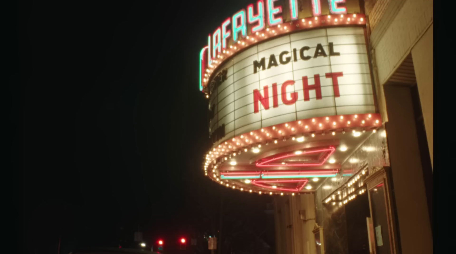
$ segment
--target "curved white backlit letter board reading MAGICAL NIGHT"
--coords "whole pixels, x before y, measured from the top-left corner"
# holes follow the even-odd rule
[[[375,112],[361,26],[279,36],[219,67],[209,97],[214,142],[283,122]]]

